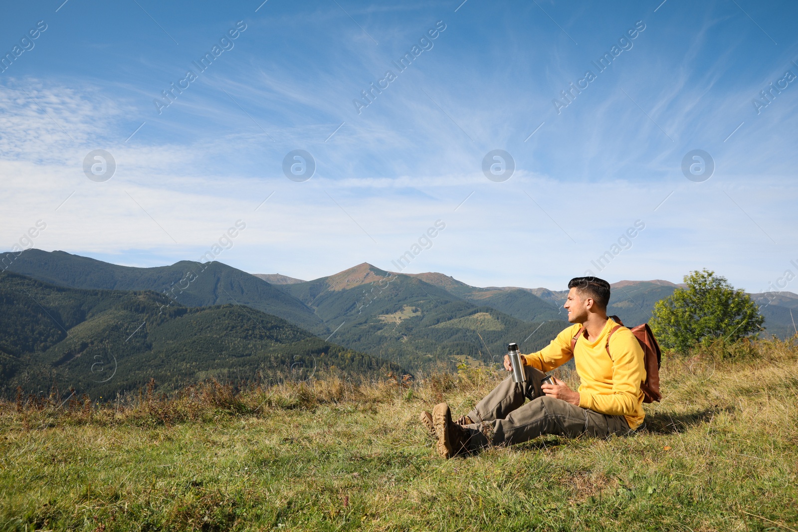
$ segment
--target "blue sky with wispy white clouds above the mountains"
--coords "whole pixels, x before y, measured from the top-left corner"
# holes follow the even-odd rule
[[[794,2],[261,1],[6,6],[0,246],[160,266],[242,220],[217,260],[311,279],[397,270],[441,220],[405,272],[562,289],[706,267],[760,291],[798,271]],[[294,150],[306,181],[283,173]],[[685,177],[693,150],[709,179]]]

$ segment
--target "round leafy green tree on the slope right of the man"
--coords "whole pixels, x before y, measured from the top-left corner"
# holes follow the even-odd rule
[[[757,304],[725,277],[696,270],[684,280],[687,288],[654,305],[650,326],[662,347],[686,354],[700,342],[736,341],[760,331],[764,317]]]

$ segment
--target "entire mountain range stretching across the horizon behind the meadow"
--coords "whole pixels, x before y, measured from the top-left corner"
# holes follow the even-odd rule
[[[180,379],[191,380],[231,368],[251,371],[255,359],[265,357],[267,352],[272,353],[270,357],[277,356],[275,353],[307,357],[307,353],[347,352],[358,363],[353,366],[339,361],[337,367],[346,366],[347,371],[353,372],[359,371],[358,368],[417,372],[428,370],[433,365],[453,368],[456,361],[489,364],[501,360],[510,341],[516,341],[522,351],[531,352],[546,345],[568,325],[567,314],[562,308],[567,290],[517,286],[482,288],[469,286],[445,274],[392,273],[368,263],[338,274],[303,281],[281,274],[248,274],[220,262],[181,261],[172,266],[135,268],[63,251],[32,249],[18,256],[5,255],[9,256],[14,260],[10,263],[4,261],[6,271],[18,276],[10,277],[6,273],[0,278],[3,285],[35,280],[39,284],[26,285],[26,290],[36,293],[65,288],[88,290],[80,294],[70,293],[70,297],[81,301],[99,298],[97,301],[103,302],[97,302],[96,308],[107,310],[99,312],[94,310],[95,306],[81,303],[82,306],[78,306],[86,310],[80,316],[85,319],[64,321],[65,317],[55,317],[62,316],[61,308],[47,303],[58,298],[49,296],[43,298],[44,303],[40,301],[36,305],[41,307],[41,311],[53,314],[53,320],[59,323],[58,328],[53,329],[52,324],[45,326],[41,313],[38,321],[30,324],[27,336],[10,325],[13,321],[10,318],[2,321],[0,334],[6,334],[6,340],[3,343],[0,336],[0,354],[3,357],[0,377],[6,383],[12,380],[9,372],[13,372],[13,378],[17,380],[22,378],[20,368],[33,367],[31,361],[34,359],[43,364],[40,370],[49,368],[53,371],[64,361],[76,361],[69,363],[75,367],[83,364],[78,357],[83,353],[78,349],[82,348],[70,343],[74,341],[73,336],[79,336],[79,331],[91,331],[90,339],[81,341],[94,346],[93,349],[100,349],[97,346],[119,343],[121,336],[132,333],[128,331],[128,324],[142,322],[147,324],[144,344],[135,344],[136,335],[122,342],[137,345],[137,350],[132,350],[136,351],[136,356],[144,357],[133,357],[129,345],[123,346],[128,349],[124,353],[130,353],[129,357],[125,355],[128,358],[123,357],[124,360],[136,361],[135,364],[131,362],[127,374],[131,382],[140,383],[146,375],[156,373],[154,368],[160,368],[157,370],[160,378],[171,379],[172,384]],[[654,304],[673,294],[678,286],[662,280],[616,282],[611,285],[608,313],[618,315],[630,326],[649,321]],[[16,299],[9,296],[8,301],[12,302],[6,305],[4,313],[13,316],[18,311],[34,315],[36,309],[30,307],[30,301],[28,308],[18,299],[19,287],[14,290]],[[65,298],[64,292],[58,294],[61,294],[59,298]],[[751,296],[760,304],[766,333],[787,337],[795,332],[792,313],[793,309],[798,310],[798,295],[780,292]],[[132,301],[137,302],[134,305]],[[70,305],[77,304],[67,305],[71,309]],[[139,309],[136,311],[138,315],[124,314],[132,312],[129,309],[134,307]],[[164,314],[172,316],[172,313],[180,319],[159,325]],[[268,322],[270,327],[284,330],[290,341],[270,344],[269,349],[255,349],[251,342],[263,338],[252,336],[255,334],[253,331],[239,329],[236,325],[251,324],[252,316],[259,323]],[[121,325],[123,322],[125,325]],[[223,329],[219,329],[221,324],[224,324]],[[162,326],[165,329],[160,329]],[[77,328],[74,334],[72,328]],[[9,339],[8,332],[14,330],[17,332]],[[69,336],[57,336],[58,330],[61,330],[60,334],[69,332]],[[166,337],[169,337],[168,341],[160,340]],[[204,340],[197,343],[198,337]],[[211,341],[210,337],[215,340]],[[228,344],[225,341],[229,341]],[[303,341],[308,343],[303,346]],[[243,351],[249,354],[236,356],[232,345],[248,345]],[[192,372],[187,368],[193,364],[192,350],[197,349],[196,353],[202,353],[200,359],[203,363]],[[211,364],[210,353],[214,351],[218,356]],[[172,375],[167,362],[156,361],[165,361],[166,353],[177,352],[182,354],[175,355],[172,360],[184,369]],[[41,356],[34,357],[31,353]],[[103,353],[110,351],[106,349]],[[103,353],[99,356],[104,357]],[[149,354],[145,356],[142,353]],[[90,354],[84,360],[93,356]],[[244,360],[247,357],[255,358]],[[329,353],[327,357],[330,357]],[[147,360],[147,365],[142,365],[144,363],[139,360]],[[275,359],[274,363],[264,366],[267,373],[277,371],[278,367],[284,368],[288,359],[283,357],[280,360],[278,363]],[[28,374],[24,378],[32,377]]]

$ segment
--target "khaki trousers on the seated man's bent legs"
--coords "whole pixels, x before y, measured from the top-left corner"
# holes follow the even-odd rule
[[[508,376],[468,412],[475,422],[464,425],[470,435],[469,450],[522,443],[542,434],[607,438],[634,433],[623,416],[599,414],[546,396],[540,389],[540,380],[546,374],[531,366],[524,366],[524,370],[525,382],[516,384],[512,375]],[[524,404],[527,398],[530,402]]]

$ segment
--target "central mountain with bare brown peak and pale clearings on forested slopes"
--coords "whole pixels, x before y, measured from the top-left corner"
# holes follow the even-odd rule
[[[513,301],[489,305],[434,279],[367,263],[279,288],[314,309],[336,342],[413,370],[452,357],[499,361],[508,341],[533,351],[567,326],[557,309],[531,294],[528,308],[515,312]]]

